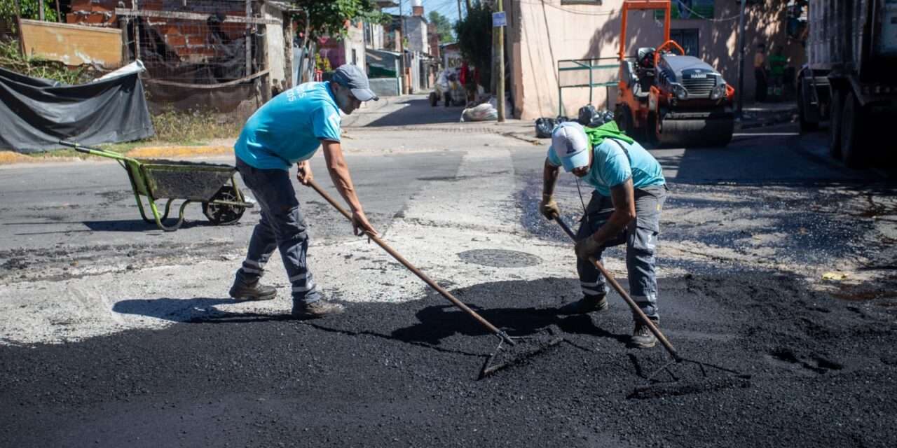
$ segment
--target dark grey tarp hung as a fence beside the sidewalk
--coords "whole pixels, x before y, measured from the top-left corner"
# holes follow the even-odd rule
[[[128,66],[68,85],[0,68],[0,149],[39,152],[59,148],[59,140],[98,144],[152,136],[142,70]]]

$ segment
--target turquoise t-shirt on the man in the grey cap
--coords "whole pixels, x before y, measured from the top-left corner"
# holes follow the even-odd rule
[[[234,144],[237,157],[255,168],[290,169],[311,159],[321,140],[339,142],[342,119],[329,84],[300,84],[258,108]]]

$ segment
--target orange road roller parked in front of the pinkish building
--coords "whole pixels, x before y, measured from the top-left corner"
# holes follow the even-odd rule
[[[660,47],[640,47],[626,55],[626,19],[632,10],[664,11]],[[735,89],[670,39],[670,2],[625,0],[622,15],[617,125],[655,147],[726,146],[735,130]]]

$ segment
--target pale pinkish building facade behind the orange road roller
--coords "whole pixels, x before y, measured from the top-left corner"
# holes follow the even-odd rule
[[[588,82],[588,71],[564,71],[559,75],[559,61],[601,58],[599,65],[619,64],[623,0],[603,0],[589,4],[570,0],[502,0],[508,13],[506,54],[509,60],[509,86],[514,101],[514,116],[533,119],[558,114],[558,85]],[[678,0],[674,4],[680,4]],[[683,10],[671,22],[672,38],[687,47],[693,56],[701,57],[722,73],[732,86],[737,85],[736,39],[738,2],[734,0],[692,1],[702,4],[697,12]],[[767,3],[768,4],[768,3]],[[775,2],[778,4],[778,2]],[[692,6],[692,9],[696,9]],[[701,14],[707,14],[701,18]],[[710,17],[712,15],[712,17]],[[675,14],[679,16],[679,14]],[[783,47],[789,65],[799,68],[804,63],[804,49],[789,42],[785,27],[785,2],[781,5],[753,6],[745,18],[745,101],[753,99],[753,54],[757,44],[767,48]],[[631,12],[628,18],[627,53],[632,56],[639,47],[658,47],[663,43],[663,21],[655,13]],[[606,58],[606,59],[605,59]],[[614,82],[614,68],[595,70],[594,82]],[[596,88],[592,104],[604,108],[614,105],[615,88]],[[588,104],[588,88],[565,89],[563,109],[567,115]]]

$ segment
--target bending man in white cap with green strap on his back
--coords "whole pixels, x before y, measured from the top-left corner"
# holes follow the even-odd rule
[[[666,180],[657,159],[623,134],[613,120],[596,128],[565,122],[554,128],[544,163],[544,191],[539,211],[549,220],[561,215],[553,199],[560,168],[595,188],[580,221],[576,245],[577,271],[583,298],[562,306],[562,314],[607,309],[608,292],[600,271],[588,262],[601,260],[605,247],[626,244],[629,292],[641,310],[659,324],[655,251],[660,211],[666,201]],[[635,320],[631,345],[657,344],[648,326]]]

